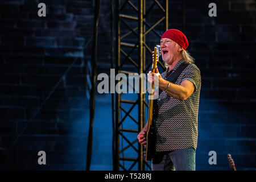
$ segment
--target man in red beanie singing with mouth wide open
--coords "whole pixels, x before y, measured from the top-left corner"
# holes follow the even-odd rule
[[[162,59],[168,65],[161,75],[148,72],[148,81],[154,84],[158,77],[159,92],[154,118],[156,148],[152,170],[194,171],[197,147],[197,118],[201,89],[200,70],[185,49],[188,40],[183,32],[170,29],[160,39]],[[183,63],[186,67],[174,82],[168,77]],[[139,143],[146,145],[148,123],[138,134]]]

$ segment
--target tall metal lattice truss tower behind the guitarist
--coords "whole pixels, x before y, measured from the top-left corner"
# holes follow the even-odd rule
[[[147,5],[146,5],[147,3]],[[156,11],[157,10],[157,11]],[[160,19],[154,21],[154,15],[157,12]],[[147,73],[150,69],[151,63],[146,63],[146,55],[151,55],[154,50],[154,46],[149,46],[150,36],[156,36],[156,39],[160,39],[161,34],[168,29],[168,0],[162,2],[136,0],[136,1],[116,1],[116,64],[115,75],[118,73]],[[157,17],[158,17],[157,16]],[[159,25],[162,27],[159,28]],[[151,33],[152,32],[152,33]],[[130,36],[130,38],[129,38]],[[157,44],[155,42],[154,44]],[[147,53],[146,53],[147,52]],[[134,56],[135,54],[135,56]],[[147,61],[148,62],[148,61]],[[147,64],[147,65],[146,65]],[[162,63],[160,66],[164,68]],[[138,165],[137,170],[145,170],[145,166],[150,168],[150,165],[144,159],[144,148],[138,143],[137,137],[129,140],[126,137],[127,133],[138,134],[144,127],[146,122],[146,109],[148,108],[147,100],[145,99],[146,93],[142,92],[142,77],[139,77],[139,93],[136,100],[127,100],[123,98],[124,93],[115,93],[115,130],[114,130],[114,170],[132,170],[135,165]],[[135,85],[133,85],[133,90]],[[123,107],[123,104],[130,104],[129,110]],[[131,111],[138,108],[138,118],[134,118],[131,115]],[[125,115],[122,117],[122,113]],[[127,120],[135,122],[137,125],[134,129],[123,128],[122,125]],[[121,147],[120,140],[125,140],[127,146]],[[125,156],[124,152],[127,150],[134,150],[138,153],[137,157]],[[121,164],[121,161],[123,162]],[[124,165],[124,161],[129,161],[130,165]]]

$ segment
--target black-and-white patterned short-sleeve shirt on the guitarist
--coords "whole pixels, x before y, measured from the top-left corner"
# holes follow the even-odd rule
[[[166,80],[182,63],[184,60],[179,60],[170,72],[167,69],[161,76]],[[195,64],[189,64],[174,84],[180,85],[184,80],[191,81],[196,88],[185,101],[177,100],[166,92],[158,96],[155,113],[156,152],[191,147],[196,150],[201,75]]]

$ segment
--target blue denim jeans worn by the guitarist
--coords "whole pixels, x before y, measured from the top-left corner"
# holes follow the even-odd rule
[[[152,171],[195,171],[196,151],[184,148],[169,152],[158,152],[152,160]]]

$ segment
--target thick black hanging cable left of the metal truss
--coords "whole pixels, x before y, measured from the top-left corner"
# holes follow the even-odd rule
[[[86,170],[90,170],[90,162],[92,160],[92,140],[93,140],[93,119],[95,110],[95,94],[96,94],[96,70],[97,70],[97,42],[98,42],[98,20],[100,16],[100,0],[95,1],[94,8],[94,31],[93,31],[93,47],[92,47],[92,89],[90,90],[90,126],[87,144]]]

